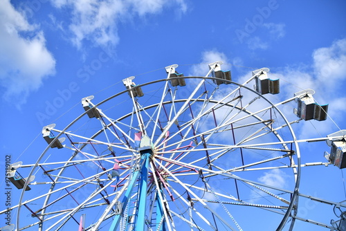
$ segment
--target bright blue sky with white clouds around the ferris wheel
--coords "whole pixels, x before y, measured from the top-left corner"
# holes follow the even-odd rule
[[[345,1],[0,3],[0,149],[12,162],[34,163],[46,147],[42,127],[57,123],[62,129],[83,112],[82,98],[95,95],[100,102],[122,91],[125,77],[135,75],[142,84],[161,75],[148,72],[171,64],[179,64],[185,76],[205,75],[208,63],[222,60],[239,82],[251,77],[253,69],[246,67],[268,67],[282,81],[274,100],[311,88],[319,103],[329,104],[327,121],[295,124],[298,138],[346,127]],[[164,78],[164,70],[159,72]],[[293,109],[284,113],[294,119]],[[324,151],[325,143],[307,145],[302,155],[306,162],[320,162]],[[307,171],[302,193],[345,200],[341,171],[323,171]],[[309,209],[302,203],[307,218],[329,223],[331,206]],[[312,210],[329,211],[318,216]]]

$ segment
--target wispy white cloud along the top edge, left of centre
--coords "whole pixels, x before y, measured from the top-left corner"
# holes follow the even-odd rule
[[[183,0],[174,1],[179,6],[179,12],[186,12],[187,6]],[[75,46],[82,48],[84,40],[97,46],[115,46],[119,42],[118,24],[132,19],[136,15],[144,17],[162,12],[165,6],[172,5],[168,0],[53,0],[57,8],[70,8],[73,17],[69,30],[73,33]]]

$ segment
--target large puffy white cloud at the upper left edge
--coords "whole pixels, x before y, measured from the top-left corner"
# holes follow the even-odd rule
[[[10,1],[2,2],[0,84],[6,89],[3,97],[20,107],[28,94],[42,85],[44,77],[55,73],[55,59],[46,48],[42,31],[29,24]]]

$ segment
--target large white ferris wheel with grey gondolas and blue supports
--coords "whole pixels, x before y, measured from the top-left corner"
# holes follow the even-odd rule
[[[311,89],[274,102],[280,80],[268,68],[239,84],[221,65],[209,64],[205,77],[185,77],[176,64],[161,80],[128,77],[105,100],[83,98],[65,128],[45,126],[37,162],[11,165],[22,191],[11,207],[16,223],[1,230],[294,230],[298,222],[344,230],[346,203],[300,192],[302,167],[346,167],[345,130],[304,140],[293,131],[326,120],[328,105]],[[299,144],[318,141],[330,146],[327,162],[302,163]],[[339,219],[300,217],[304,198],[334,206]]]

